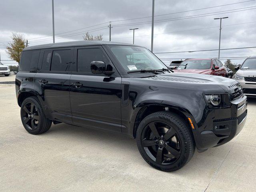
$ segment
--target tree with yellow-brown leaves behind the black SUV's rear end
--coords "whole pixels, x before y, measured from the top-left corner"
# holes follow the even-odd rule
[[[25,48],[26,40],[23,35],[14,32],[10,38],[12,41],[8,43],[8,46],[6,46],[6,53],[10,59],[20,63],[20,54]]]

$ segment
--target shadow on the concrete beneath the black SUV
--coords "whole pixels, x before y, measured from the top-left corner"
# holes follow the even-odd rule
[[[88,144],[88,142],[104,143],[104,145],[106,146],[106,150],[108,150],[108,148],[114,147],[117,151],[122,150],[124,151],[124,153],[128,152],[131,158],[128,161],[137,161],[134,163],[139,163],[140,166],[142,166],[142,169],[144,169],[145,166],[147,168],[151,168],[146,162],[144,162],[143,158],[140,156],[136,145],[136,140],[121,133],[109,132],[105,130],[95,130],[61,123],[57,125],[52,125],[50,130],[45,133],[45,135],[49,136],[48,134],[54,135],[53,137],[63,137],[64,140],[66,140],[66,138],[74,138],[74,142],[84,142],[85,144]],[[190,175],[191,177],[193,177],[195,172],[200,175],[207,169],[216,171],[220,162],[222,161],[222,159],[224,160],[231,146],[232,143],[229,142],[228,144],[219,146],[218,148],[210,148],[203,153],[198,153],[196,150],[193,158],[186,166],[172,173],[175,173],[175,175],[179,174],[186,177]]]

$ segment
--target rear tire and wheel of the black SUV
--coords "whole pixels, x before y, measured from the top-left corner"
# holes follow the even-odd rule
[[[22,124],[30,134],[41,134],[48,131],[52,121],[46,118],[42,106],[36,97],[26,98],[20,107]]]

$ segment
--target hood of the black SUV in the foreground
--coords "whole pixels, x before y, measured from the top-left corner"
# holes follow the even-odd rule
[[[202,90],[202,92],[228,92],[234,93],[241,90],[241,85],[233,79],[194,73],[168,73],[153,77],[142,78],[150,82],[152,86],[162,86],[187,90]],[[158,83],[159,82],[159,83]]]

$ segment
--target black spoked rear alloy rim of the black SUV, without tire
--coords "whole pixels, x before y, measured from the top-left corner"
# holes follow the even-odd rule
[[[27,102],[22,108],[22,121],[26,128],[36,130],[39,123],[39,115],[36,106],[32,102]]]

